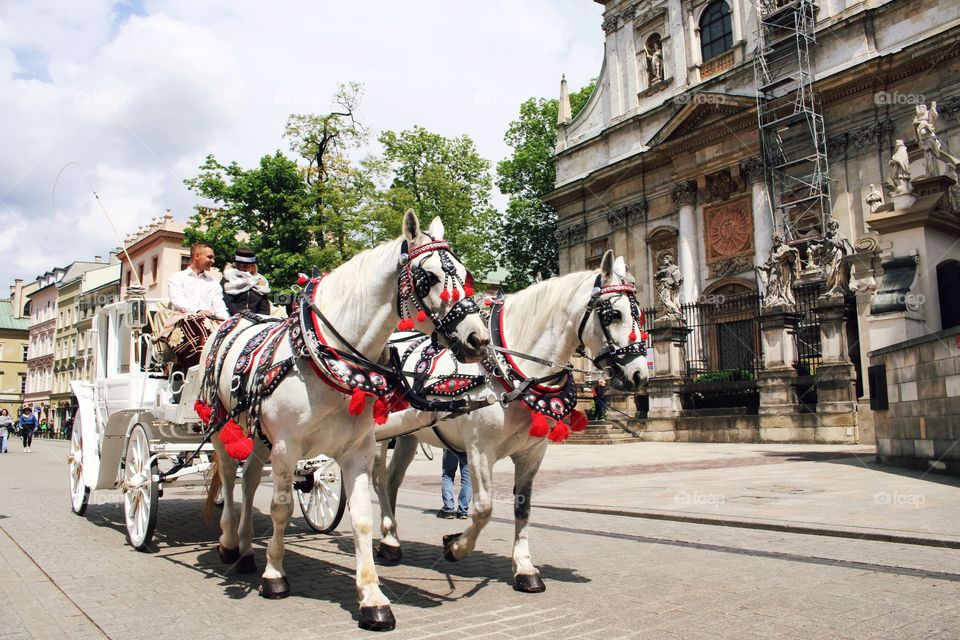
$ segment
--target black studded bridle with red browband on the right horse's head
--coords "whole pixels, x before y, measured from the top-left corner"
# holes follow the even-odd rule
[[[637,287],[632,283],[622,282],[606,287],[600,285],[601,279],[598,275],[590,294],[590,302],[587,303],[587,308],[580,319],[580,326],[577,328],[577,339],[580,341],[577,353],[589,358],[587,347],[583,342],[583,330],[586,328],[590,316],[596,312],[597,319],[600,321],[600,328],[603,331],[604,345],[597,355],[590,358],[590,361],[597,369],[608,373],[610,377],[622,378],[623,369],[627,364],[640,356],[647,355],[647,346],[644,343],[646,333],[643,331],[643,312],[637,302]],[[611,301],[612,296],[616,295],[627,296],[627,300],[630,302],[630,343],[622,347],[617,345],[610,334],[610,325],[613,324],[620,313],[617,309],[614,309]]]

